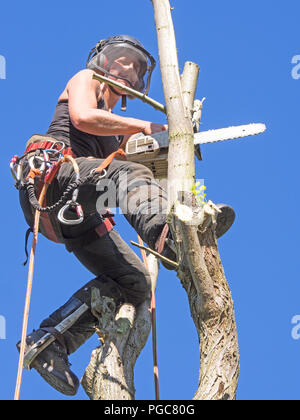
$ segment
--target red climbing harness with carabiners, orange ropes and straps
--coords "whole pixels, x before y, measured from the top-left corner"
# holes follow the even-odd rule
[[[35,137],[35,136],[33,136]],[[41,137],[37,135],[37,137]],[[124,142],[123,142],[124,143]],[[18,364],[18,374],[17,374],[17,381],[16,381],[16,388],[15,388],[15,400],[19,400],[20,398],[20,390],[21,390],[21,382],[22,382],[22,374],[23,368],[30,369],[30,366],[34,359],[46,348],[48,347],[55,339],[56,339],[56,332],[55,334],[49,332],[44,337],[42,337],[30,350],[28,353],[25,354],[26,349],[26,336],[27,336],[27,326],[28,326],[28,318],[29,318],[29,306],[30,306],[30,299],[31,299],[31,290],[32,290],[32,282],[33,282],[33,269],[34,269],[34,262],[35,262],[35,251],[38,239],[38,232],[39,232],[39,225],[40,225],[40,218],[43,214],[49,214],[51,212],[57,211],[58,212],[58,219],[61,223],[66,225],[77,225],[80,224],[84,219],[84,214],[81,205],[77,202],[79,188],[84,183],[89,182],[93,179],[95,175],[98,175],[99,178],[102,178],[106,175],[106,168],[107,166],[113,161],[115,157],[119,157],[119,159],[126,159],[126,154],[124,151],[125,144],[121,144],[120,148],[109,155],[102,164],[93,169],[90,174],[84,178],[80,178],[80,172],[78,164],[75,160],[75,156],[73,155],[70,148],[66,149],[63,142],[56,142],[55,140],[45,141],[45,142],[32,142],[27,148],[25,154],[19,158],[18,156],[14,156],[10,162],[10,169],[12,172],[12,176],[16,182],[15,186],[18,189],[26,188],[28,192],[29,202],[32,207],[35,209],[35,216],[34,216],[34,226],[33,229],[28,229],[26,233],[26,243],[28,240],[28,236],[30,232],[33,232],[33,241],[32,247],[30,252],[30,262],[29,262],[29,270],[28,270],[28,281],[27,281],[27,290],[26,290],[26,299],[25,299],[25,307],[24,307],[24,315],[23,315],[23,324],[22,324],[22,338],[20,342],[20,357],[19,357],[19,364]],[[28,165],[29,165],[29,174],[27,175],[26,179],[23,178],[23,171],[22,171],[22,161],[23,159],[29,154],[34,152],[34,155],[28,158]],[[60,169],[61,165],[65,162],[70,162],[73,165],[73,170],[75,173],[75,181],[68,185],[68,187],[63,192],[61,198],[53,205],[46,206],[45,198],[48,187],[51,185],[52,181],[54,180],[58,170]],[[40,183],[38,189],[38,198],[35,193],[35,178],[42,178],[42,182]],[[71,199],[69,199],[70,195],[72,194]],[[67,210],[74,209],[77,214],[77,219],[69,220],[65,216],[65,212]],[[96,227],[95,231],[98,236],[103,236],[106,232],[112,229],[115,222],[111,217],[111,213],[107,212],[106,215],[103,215],[105,218],[104,222]],[[45,221],[45,220],[44,220]],[[48,222],[50,222],[48,220]],[[51,225],[51,222],[48,225]],[[139,241],[142,239],[138,235]],[[27,251],[26,251],[27,253]],[[146,269],[149,271],[148,263],[146,259],[146,254],[143,255],[143,261],[146,266]],[[28,257],[28,253],[27,253]],[[59,334],[63,334],[68,328],[69,324],[71,325],[76,322],[77,318],[80,317],[88,307],[86,305],[82,305],[80,308],[77,309],[73,314],[68,317],[65,322],[62,322],[58,326],[56,326],[56,330]],[[152,287],[151,290],[151,314],[152,314],[152,339],[153,339],[153,358],[154,358],[154,380],[155,380],[155,395],[156,399],[159,399],[159,387],[158,387],[158,366],[157,366],[157,345],[156,345],[156,318],[155,318],[155,290]]]

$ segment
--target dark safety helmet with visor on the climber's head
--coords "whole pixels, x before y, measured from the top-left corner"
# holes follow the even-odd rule
[[[107,76],[114,76],[110,73],[111,65],[123,56],[138,64],[138,80],[133,85],[124,77],[118,78],[126,80],[133,89],[147,95],[156,61],[137,39],[129,35],[117,35],[99,41],[90,51],[86,67]]]

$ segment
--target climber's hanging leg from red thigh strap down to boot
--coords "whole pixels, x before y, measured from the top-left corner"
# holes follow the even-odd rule
[[[71,227],[63,231],[72,236]],[[74,235],[78,233],[76,227]],[[80,243],[76,237],[66,239],[68,248],[73,245],[74,255],[97,278],[77,291],[26,339],[27,355],[40,340],[43,340],[45,334],[50,333],[55,338],[55,341],[35,358],[31,367],[36,369],[52,387],[66,395],[75,395],[79,386],[76,375],[70,369],[68,355],[75,352],[95,333],[98,324],[97,318],[91,311],[92,288],[98,289],[102,298],[110,298],[116,308],[124,302],[137,307],[150,293],[149,273],[115,230],[88,244],[80,245]],[[56,327],[66,322],[70,316],[74,317],[83,304],[87,305],[88,309],[75,319],[67,331],[63,334],[58,333]]]

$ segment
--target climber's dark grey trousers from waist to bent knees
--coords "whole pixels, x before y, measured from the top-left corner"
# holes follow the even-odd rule
[[[76,161],[80,176],[85,178],[103,159],[77,158]],[[63,164],[49,188],[47,204],[53,204],[73,179],[72,164]],[[102,200],[104,197],[105,201]],[[32,226],[32,211],[24,191],[20,200],[26,220]],[[78,202],[84,210],[84,222],[74,226],[60,224],[62,240],[95,276],[104,274],[117,283],[127,302],[134,305],[142,303],[149,293],[150,277],[141,260],[120,235],[113,229],[92,241],[84,239],[91,229],[99,225],[99,212],[105,207],[120,207],[131,226],[153,248],[166,222],[166,192],[144,165],[114,160],[100,181],[99,175],[95,174],[89,184],[80,187]]]

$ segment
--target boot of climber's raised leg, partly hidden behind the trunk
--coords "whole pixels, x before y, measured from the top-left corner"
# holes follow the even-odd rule
[[[219,208],[219,210],[222,211],[222,213],[218,213],[217,215],[216,236],[219,239],[233,225],[235,219],[235,212],[233,208],[228,206],[227,204],[216,204],[216,206]],[[175,251],[176,248],[168,224],[165,224],[160,234],[160,237],[158,238],[155,244],[155,249],[159,254],[168,258],[169,260],[175,262],[177,261],[177,255]],[[173,266],[164,261],[162,261],[162,265],[167,270],[174,270]]]

